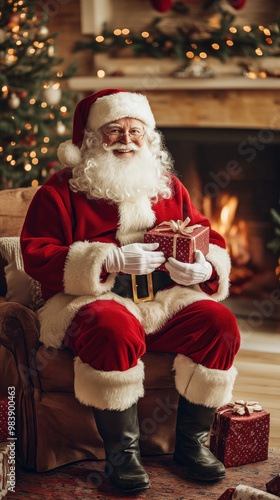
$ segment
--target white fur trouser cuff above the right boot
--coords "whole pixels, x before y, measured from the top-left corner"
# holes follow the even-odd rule
[[[230,402],[237,370],[206,368],[178,354],[174,360],[176,389],[194,404],[218,408]]]

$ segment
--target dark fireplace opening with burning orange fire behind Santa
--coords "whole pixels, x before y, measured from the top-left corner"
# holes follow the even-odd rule
[[[270,210],[279,207],[280,199],[280,131],[187,127],[161,131],[194,205],[226,239],[232,260],[230,308],[246,316],[254,301],[271,301],[274,293],[269,319],[277,319],[277,257],[267,243],[274,237]]]

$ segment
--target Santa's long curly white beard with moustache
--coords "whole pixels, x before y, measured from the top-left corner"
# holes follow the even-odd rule
[[[130,145],[114,144],[114,147],[124,149]],[[137,148],[134,143],[132,147]],[[115,203],[133,202],[143,196],[170,196],[169,175],[146,143],[135,150],[132,158],[118,158],[108,149],[102,145],[84,152],[69,181],[73,191],[84,192],[89,199],[102,198]]]

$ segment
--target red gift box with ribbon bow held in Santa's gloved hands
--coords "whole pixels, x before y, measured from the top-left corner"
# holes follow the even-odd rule
[[[204,255],[209,252],[209,227],[200,224],[190,226],[189,223],[189,217],[184,222],[162,222],[145,233],[144,242],[159,243],[157,250],[164,253],[166,260],[174,257],[180,262],[192,264],[195,250],[201,250]],[[158,269],[168,272],[164,264]]]

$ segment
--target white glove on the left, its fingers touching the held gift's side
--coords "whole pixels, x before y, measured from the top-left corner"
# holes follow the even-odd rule
[[[131,243],[111,248],[105,259],[108,273],[148,274],[165,262],[163,252],[154,252],[158,243]]]

